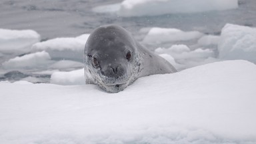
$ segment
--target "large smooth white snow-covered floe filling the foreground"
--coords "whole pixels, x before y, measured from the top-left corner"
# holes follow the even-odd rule
[[[0,82],[0,143],[256,143],[255,73],[248,61],[222,61],[119,93]]]

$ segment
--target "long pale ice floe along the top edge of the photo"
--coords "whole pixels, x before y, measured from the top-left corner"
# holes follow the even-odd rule
[[[165,15],[171,13],[201,13],[236,9],[238,0],[125,0],[93,8],[97,13],[117,13],[122,17]]]

